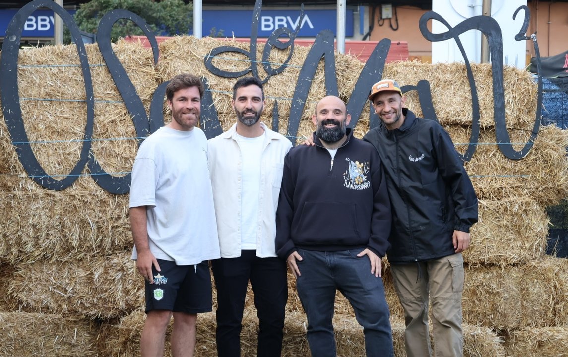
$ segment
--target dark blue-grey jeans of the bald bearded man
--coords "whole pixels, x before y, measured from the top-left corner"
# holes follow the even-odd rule
[[[394,356],[383,281],[371,274],[366,255],[357,257],[361,251],[298,249],[303,260],[296,261],[300,270],[296,289],[308,318],[312,357],[337,355],[332,324],[336,289],[349,300],[357,322],[363,326],[367,356]]]

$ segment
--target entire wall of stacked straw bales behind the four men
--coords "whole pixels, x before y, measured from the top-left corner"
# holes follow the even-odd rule
[[[232,41],[174,37],[160,44],[160,62],[155,67],[151,52],[138,44],[120,41],[113,49],[147,112],[159,83],[189,72],[207,78],[220,124],[227,129],[235,120],[231,108],[235,79],[217,77],[203,64],[211,49],[221,45],[248,49],[248,44]],[[261,51],[262,47],[257,58],[262,58]],[[266,107],[261,120],[272,127],[272,112],[278,101],[281,133],[286,133],[294,86],[307,51],[295,47],[289,67],[270,77],[265,85]],[[122,175],[132,167],[136,132],[97,47],[87,45],[87,53],[95,96],[91,150],[106,171]],[[287,49],[274,49],[270,56],[273,68],[282,64],[288,54]],[[220,57],[213,62],[219,69],[239,72],[258,66],[260,77],[267,77],[262,65],[250,63],[242,54],[223,53]],[[68,173],[82,146],[86,106],[75,101],[85,100],[77,65],[76,49],[71,46],[20,53],[18,75],[24,124],[38,161],[51,175]],[[353,90],[357,78],[354,74],[360,73],[362,66],[353,57],[336,57],[337,82],[345,101]],[[559,129],[543,128],[527,158],[511,161],[504,157],[493,144],[491,72],[487,66],[475,66],[474,72],[483,145],[466,163],[480,199],[480,221],[472,230],[471,248],[465,255],[465,355],[516,354],[519,346],[525,354],[548,354],[553,346],[558,348],[558,341],[568,340],[562,327],[567,323],[566,264],[544,255],[548,226],[544,207],[566,196],[567,164],[563,153],[568,136]],[[507,123],[515,131],[512,141],[524,142],[525,131],[534,120],[536,89],[523,72],[506,69],[504,75]],[[383,77],[396,78],[401,85],[427,79],[438,119],[452,135],[457,149],[463,151],[462,144],[469,142],[471,99],[462,65],[401,62],[387,65]],[[324,95],[320,63],[303,110],[299,137],[312,132],[310,117]],[[410,94],[408,104],[420,114],[416,99]],[[357,136],[369,129],[369,115],[368,110],[361,115]],[[166,120],[168,117],[166,111]],[[0,347],[0,355],[13,354],[15,348],[20,351],[20,345],[45,355],[137,355],[144,324],[140,310],[143,283],[130,261],[128,195],[103,191],[86,168],[85,175],[64,191],[39,187],[19,163],[4,120],[0,120],[0,173],[0,267],[5,276],[0,318],[3,329],[11,329],[11,334],[5,335],[9,343]],[[389,276],[386,270],[395,351],[396,355],[404,355],[402,311]],[[305,315],[295,293],[294,278],[289,278],[283,355],[308,355]],[[214,356],[215,314],[203,314],[198,321],[198,355]],[[335,326],[340,355],[364,354],[362,330],[340,295]],[[37,333],[29,334],[30,328]],[[249,296],[243,322],[243,355],[256,353],[257,328]],[[541,343],[531,341],[532,328],[538,329],[535,331],[539,331]],[[552,343],[553,338],[557,338],[556,343]]]

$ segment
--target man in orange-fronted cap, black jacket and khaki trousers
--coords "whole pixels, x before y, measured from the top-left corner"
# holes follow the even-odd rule
[[[448,133],[403,108],[398,83],[375,83],[369,100],[381,124],[364,140],[385,167],[393,218],[387,257],[404,308],[407,355],[432,355],[430,300],[435,355],[461,356],[461,252],[478,219],[477,196]]]

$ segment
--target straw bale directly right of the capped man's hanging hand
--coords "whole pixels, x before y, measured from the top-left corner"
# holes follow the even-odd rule
[[[463,259],[477,264],[516,264],[544,257],[548,216],[528,198],[479,200],[479,221]]]

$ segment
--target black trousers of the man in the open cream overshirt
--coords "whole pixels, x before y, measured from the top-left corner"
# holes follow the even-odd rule
[[[247,286],[250,280],[258,316],[258,356],[279,356],[288,285],[286,262],[258,258],[256,250],[243,250],[239,258],[211,261],[217,289],[217,353],[240,356],[240,333]]]

